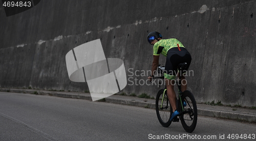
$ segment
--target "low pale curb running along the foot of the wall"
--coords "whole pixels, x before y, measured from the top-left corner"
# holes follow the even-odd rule
[[[49,95],[49,96],[56,96],[56,97],[62,97],[62,98],[92,100],[91,96],[85,96],[82,94],[65,94],[65,93],[61,93],[61,92],[40,91],[40,90],[33,90],[33,89],[31,89],[31,90],[0,89],[0,92],[27,93],[27,94],[35,94],[35,95]],[[152,109],[155,109],[155,107],[156,107],[155,103],[142,102],[142,101],[136,101],[136,100],[113,99],[110,97],[105,98],[105,102],[145,107],[145,108],[152,108]],[[256,123],[256,115],[242,114],[239,112],[198,108],[198,116],[214,117],[214,118]]]

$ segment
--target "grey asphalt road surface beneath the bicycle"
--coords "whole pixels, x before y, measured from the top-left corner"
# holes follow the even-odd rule
[[[255,124],[206,117],[187,133],[180,122],[162,127],[154,109],[0,92],[0,140],[254,140],[255,134]]]

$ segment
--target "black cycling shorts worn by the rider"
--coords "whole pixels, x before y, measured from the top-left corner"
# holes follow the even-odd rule
[[[179,50],[180,48],[180,50]],[[167,79],[175,79],[178,74],[178,65],[180,63],[187,63],[186,71],[191,63],[191,55],[184,47],[173,47],[167,52],[166,63],[165,63],[165,74],[164,77]],[[168,75],[167,75],[168,74]]]

